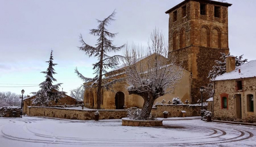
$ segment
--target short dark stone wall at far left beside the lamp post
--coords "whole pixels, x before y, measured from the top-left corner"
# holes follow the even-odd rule
[[[0,117],[20,117],[20,107],[17,106],[4,106],[0,107]],[[16,111],[13,113],[13,111]]]

